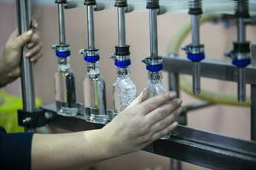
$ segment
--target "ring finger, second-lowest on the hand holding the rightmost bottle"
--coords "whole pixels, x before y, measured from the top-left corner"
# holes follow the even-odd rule
[[[160,120],[159,122],[154,123],[152,127],[150,127],[150,131],[152,133],[158,133],[165,129],[166,127],[170,126],[173,122],[177,120],[177,116],[181,113],[182,108],[178,108],[176,111],[173,111],[172,114],[166,116],[164,119]]]

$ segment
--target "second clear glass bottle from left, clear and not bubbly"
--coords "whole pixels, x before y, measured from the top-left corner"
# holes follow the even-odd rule
[[[99,69],[98,62],[87,63],[87,75],[84,78],[84,105],[90,110],[85,110],[86,121],[105,124],[108,122],[106,85]]]

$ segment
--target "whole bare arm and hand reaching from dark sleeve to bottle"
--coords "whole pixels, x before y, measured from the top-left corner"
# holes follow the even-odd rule
[[[173,94],[172,94],[173,95]],[[67,134],[35,134],[32,169],[76,169],[96,161],[141,150],[177,127],[181,100],[170,94],[142,96],[99,130]]]

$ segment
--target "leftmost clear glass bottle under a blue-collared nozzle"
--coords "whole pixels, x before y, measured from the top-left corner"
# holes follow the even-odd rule
[[[55,101],[59,115],[77,115],[75,77],[68,58],[58,58],[58,68],[55,72]]]

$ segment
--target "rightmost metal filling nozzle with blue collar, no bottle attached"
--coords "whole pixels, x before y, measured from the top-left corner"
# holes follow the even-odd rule
[[[246,40],[246,22],[250,18],[247,0],[238,0],[236,8],[237,41],[229,56],[237,67],[238,100],[246,101],[246,67],[251,64],[250,42]]]

